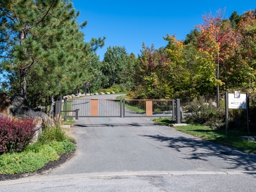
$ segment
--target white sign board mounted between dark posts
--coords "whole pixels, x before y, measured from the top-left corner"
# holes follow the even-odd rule
[[[228,93],[228,109],[246,109],[246,94]]]

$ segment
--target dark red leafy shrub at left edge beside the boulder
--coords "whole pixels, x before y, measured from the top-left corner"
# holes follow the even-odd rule
[[[24,150],[35,136],[35,126],[33,118],[29,120],[0,118],[0,154]]]

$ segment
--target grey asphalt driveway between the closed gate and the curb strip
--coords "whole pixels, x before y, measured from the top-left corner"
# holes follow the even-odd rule
[[[255,155],[156,125],[147,117],[79,118],[72,129],[76,156],[47,174],[256,171]]]

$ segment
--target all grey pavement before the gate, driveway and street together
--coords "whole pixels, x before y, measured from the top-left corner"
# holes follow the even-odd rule
[[[255,191],[255,155],[146,117],[79,118],[76,125],[75,157],[44,176],[0,182],[0,191]]]

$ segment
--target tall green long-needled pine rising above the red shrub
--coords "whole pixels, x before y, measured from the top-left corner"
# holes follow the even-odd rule
[[[24,97],[67,93],[82,76],[86,55],[104,45],[104,38],[84,42],[79,27],[86,22],[77,24],[69,0],[0,0],[0,13],[1,69]]]

